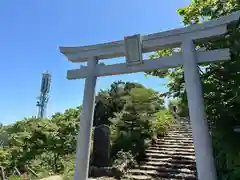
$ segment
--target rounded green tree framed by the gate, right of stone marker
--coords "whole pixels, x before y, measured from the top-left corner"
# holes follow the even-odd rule
[[[155,113],[162,108],[163,99],[157,92],[147,88],[132,88],[122,97],[123,111],[111,119],[111,139],[113,156],[118,151],[132,151],[140,158],[144,155],[146,139],[151,139],[151,121]]]

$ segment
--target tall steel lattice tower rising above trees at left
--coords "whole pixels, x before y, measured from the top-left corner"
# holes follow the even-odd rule
[[[49,99],[49,90],[51,84],[51,74],[45,72],[42,74],[42,83],[40,89],[40,96],[37,98],[38,118],[46,116],[47,102]]]

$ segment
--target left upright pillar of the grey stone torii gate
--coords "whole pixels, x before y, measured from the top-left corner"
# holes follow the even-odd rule
[[[89,71],[94,72],[96,70],[97,59],[95,57],[89,58],[87,65]],[[91,73],[85,80],[83,107],[80,117],[80,133],[77,138],[74,180],[88,179],[96,81],[97,77]]]

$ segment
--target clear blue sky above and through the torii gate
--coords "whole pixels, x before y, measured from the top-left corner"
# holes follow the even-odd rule
[[[47,114],[82,103],[83,80],[69,81],[76,68],[59,46],[82,46],[181,27],[176,10],[190,0],[7,0],[0,2],[0,122],[37,113],[41,73],[52,73]],[[110,61],[110,60],[108,60]],[[117,62],[117,61],[114,61]],[[143,73],[99,78],[97,91],[115,80],[136,81],[164,91],[166,80]]]

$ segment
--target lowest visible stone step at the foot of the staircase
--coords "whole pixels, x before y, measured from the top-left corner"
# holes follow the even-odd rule
[[[189,173],[181,173],[181,172],[158,172],[155,170],[139,170],[139,169],[132,169],[129,171],[132,175],[149,175],[152,176],[152,178],[176,178],[176,179],[186,179],[191,178],[196,180],[195,174],[189,174]]]

